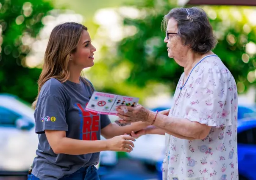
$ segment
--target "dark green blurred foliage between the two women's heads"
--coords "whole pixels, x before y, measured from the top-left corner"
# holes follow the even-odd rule
[[[175,88],[183,68],[167,56],[165,33],[161,30],[164,13],[174,7],[168,0],[141,0],[136,8],[144,15],[138,19],[124,19],[125,26],[137,29],[134,36],[124,38],[118,44],[119,58],[133,64],[128,82],[139,87],[144,87],[147,82],[159,82],[170,86],[171,90]]]

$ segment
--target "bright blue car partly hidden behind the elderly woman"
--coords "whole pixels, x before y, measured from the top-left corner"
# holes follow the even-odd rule
[[[239,180],[256,180],[256,117],[238,121],[237,152]],[[156,164],[159,180],[162,180],[161,166],[162,159]]]

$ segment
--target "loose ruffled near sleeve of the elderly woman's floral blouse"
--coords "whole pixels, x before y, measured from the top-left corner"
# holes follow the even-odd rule
[[[195,77],[189,91],[185,118],[209,126],[232,125],[235,89],[234,78],[227,69],[204,71]]]

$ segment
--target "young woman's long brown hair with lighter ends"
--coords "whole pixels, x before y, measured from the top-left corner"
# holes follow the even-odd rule
[[[34,109],[36,108],[40,90],[47,80],[56,78],[60,82],[66,82],[69,79],[68,63],[70,53],[76,51],[83,30],[87,30],[87,27],[75,22],[66,22],[53,28],[45,51],[42,73],[37,82],[38,94],[36,101],[32,104]],[[89,82],[83,81],[89,85]]]

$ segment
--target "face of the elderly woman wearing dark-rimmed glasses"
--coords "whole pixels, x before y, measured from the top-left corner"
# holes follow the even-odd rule
[[[166,32],[178,33],[177,22],[173,18],[169,19]],[[182,62],[179,61],[186,55],[188,47],[183,45],[181,38],[177,34],[169,34],[168,39],[167,37],[164,38],[164,42],[167,43],[168,57],[174,58],[182,66]]]

